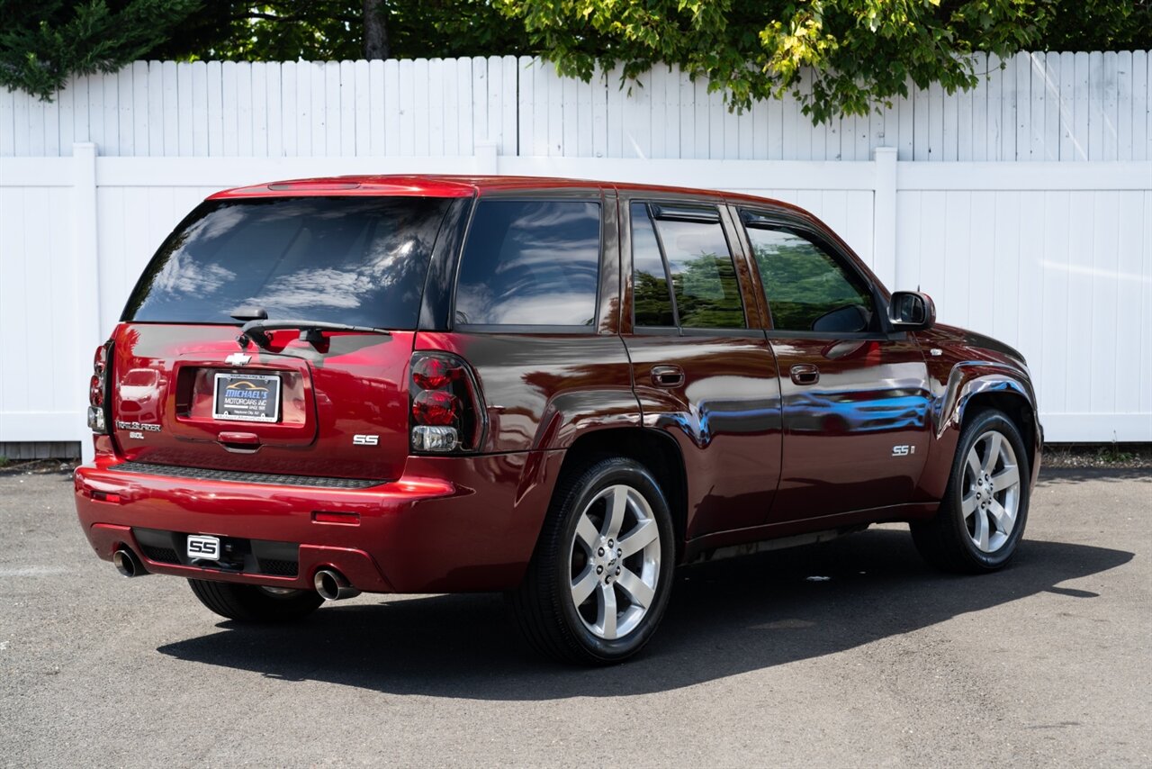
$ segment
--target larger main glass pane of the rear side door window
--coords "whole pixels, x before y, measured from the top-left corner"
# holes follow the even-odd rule
[[[680,325],[685,329],[743,329],[740,281],[719,221],[657,219],[668,259]]]

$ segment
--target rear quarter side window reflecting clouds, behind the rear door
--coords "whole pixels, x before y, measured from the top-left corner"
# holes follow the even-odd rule
[[[456,286],[456,322],[591,326],[600,272],[600,205],[480,201]]]

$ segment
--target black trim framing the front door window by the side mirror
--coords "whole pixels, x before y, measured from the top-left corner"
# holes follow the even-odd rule
[[[887,318],[888,303],[878,291],[877,282],[861,269],[855,258],[851,258],[848,254],[846,254],[844,250],[841,249],[834,240],[828,238],[827,234],[819,227],[785,209],[765,209],[741,203],[734,204],[732,208],[736,214],[735,219],[738,226],[743,229],[743,238],[748,246],[748,261],[750,269],[753,271],[753,281],[764,299],[764,306],[767,312],[766,325],[770,326],[765,329],[765,332],[770,339],[892,339],[903,338],[907,336],[903,332],[894,332],[889,325]],[[764,221],[757,223],[760,226],[757,226],[756,224],[750,225],[744,216],[745,212],[764,217]],[[878,318],[879,330],[829,333],[825,331],[790,331],[788,329],[776,329],[775,317],[772,314],[772,300],[768,299],[768,293],[764,288],[764,278],[760,276],[760,266],[756,263],[756,257],[752,252],[752,238],[749,234],[750,229],[791,231],[801,238],[804,238],[805,240],[823,248],[823,250],[832,257],[832,261],[836,265],[850,274],[856,276],[863,287],[867,291],[869,295],[872,296],[873,312]]]

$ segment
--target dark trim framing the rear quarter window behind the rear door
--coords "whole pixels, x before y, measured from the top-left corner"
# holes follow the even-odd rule
[[[485,201],[499,201],[501,203],[573,203],[585,202],[596,203],[600,210],[598,219],[599,247],[596,258],[596,304],[592,315],[592,323],[589,325],[570,324],[529,324],[529,323],[457,323],[456,322],[456,294],[460,291],[460,270],[464,264],[464,252],[468,250],[468,242],[472,234],[472,224],[476,213]],[[598,336],[600,333],[600,293],[604,276],[604,255],[607,249],[605,243],[605,217],[607,201],[602,189],[579,189],[579,190],[541,190],[539,194],[516,190],[514,194],[483,195],[478,196],[472,204],[472,210],[468,213],[468,225],[464,227],[464,236],[461,239],[460,249],[456,256],[456,265],[452,278],[452,301],[448,303],[448,331],[460,331],[462,333],[513,333],[513,334],[567,334],[567,336]]]

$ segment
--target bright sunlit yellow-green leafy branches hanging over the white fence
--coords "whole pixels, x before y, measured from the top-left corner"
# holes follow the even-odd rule
[[[706,76],[735,107],[791,92],[814,121],[939,82],[976,84],[967,54],[1034,45],[1045,0],[495,0],[561,73],[658,62]],[[811,68],[811,88],[801,91]]]

